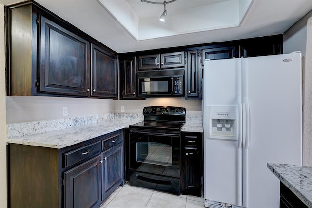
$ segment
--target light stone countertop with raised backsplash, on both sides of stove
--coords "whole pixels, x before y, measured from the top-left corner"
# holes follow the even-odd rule
[[[184,132],[203,132],[201,123],[187,121]],[[8,143],[61,149],[142,121],[137,115],[100,115],[8,125]],[[95,123],[94,123],[95,122]]]

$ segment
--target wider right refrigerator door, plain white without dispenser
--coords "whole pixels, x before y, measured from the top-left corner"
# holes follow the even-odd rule
[[[267,163],[302,165],[301,53],[243,58],[243,206],[279,207]]]

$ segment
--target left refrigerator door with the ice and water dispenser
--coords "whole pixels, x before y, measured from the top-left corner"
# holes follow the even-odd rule
[[[242,203],[241,62],[242,59],[239,58],[205,60],[204,64],[204,198],[206,207],[208,207],[208,200],[234,205]],[[232,129],[230,136],[226,135],[224,126],[219,126],[220,135],[217,135],[217,131],[211,133],[212,125],[214,125],[213,119],[220,122],[218,125],[231,120],[231,125],[235,124],[235,129]]]

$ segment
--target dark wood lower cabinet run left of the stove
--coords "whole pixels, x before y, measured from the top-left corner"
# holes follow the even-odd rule
[[[8,207],[99,207],[124,185],[123,130],[61,149],[8,144]]]

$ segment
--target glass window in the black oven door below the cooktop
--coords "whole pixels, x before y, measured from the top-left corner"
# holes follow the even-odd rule
[[[172,165],[172,146],[156,142],[137,142],[137,162]]]

